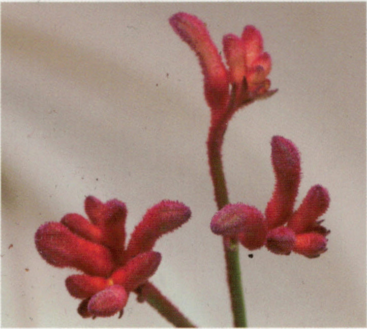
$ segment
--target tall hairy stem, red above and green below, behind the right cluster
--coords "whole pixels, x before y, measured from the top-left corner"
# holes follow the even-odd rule
[[[218,210],[229,204],[226,180],[223,171],[222,145],[227,123],[236,111],[235,88],[232,88],[231,101],[227,111],[215,123],[212,122],[207,140],[208,161],[210,176],[213,182],[215,200]],[[233,324],[235,327],[246,327],[246,315],[242,293],[241,270],[239,267],[238,242],[223,238],[223,247],[226,259],[227,282],[231,298]]]

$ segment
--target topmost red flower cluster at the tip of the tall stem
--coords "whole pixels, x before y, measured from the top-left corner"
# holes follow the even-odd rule
[[[229,108],[230,112],[234,112],[240,106],[276,91],[269,90],[267,75],[271,70],[271,58],[263,51],[262,36],[254,26],[245,26],[241,37],[233,34],[223,37],[227,69],[205,24],[199,18],[181,12],[173,15],[169,22],[199,57],[204,75],[205,98],[214,119],[220,120]]]

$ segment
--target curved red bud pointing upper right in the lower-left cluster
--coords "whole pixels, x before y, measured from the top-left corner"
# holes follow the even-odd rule
[[[190,208],[178,201],[163,200],[151,207],[131,235],[128,257],[151,250],[163,234],[174,231],[187,222],[190,216]]]

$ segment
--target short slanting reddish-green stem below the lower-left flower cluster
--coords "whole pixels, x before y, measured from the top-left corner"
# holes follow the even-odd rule
[[[145,301],[155,308],[164,318],[176,327],[195,328],[190,320],[188,320],[160,291],[150,282],[142,286],[141,291]]]

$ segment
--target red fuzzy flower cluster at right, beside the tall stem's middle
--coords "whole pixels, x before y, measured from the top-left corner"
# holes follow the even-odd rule
[[[271,160],[276,184],[265,215],[246,204],[229,204],[213,216],[211,231],[236,239],[250,250],[265,245],[276,254],[294,251],[318,257],[326,251],[326,235],[330,233],[318,220],[329,206],[328,191],[314,185],[294,211],[301,177],[299,152],[290,140],[274,136]]]

